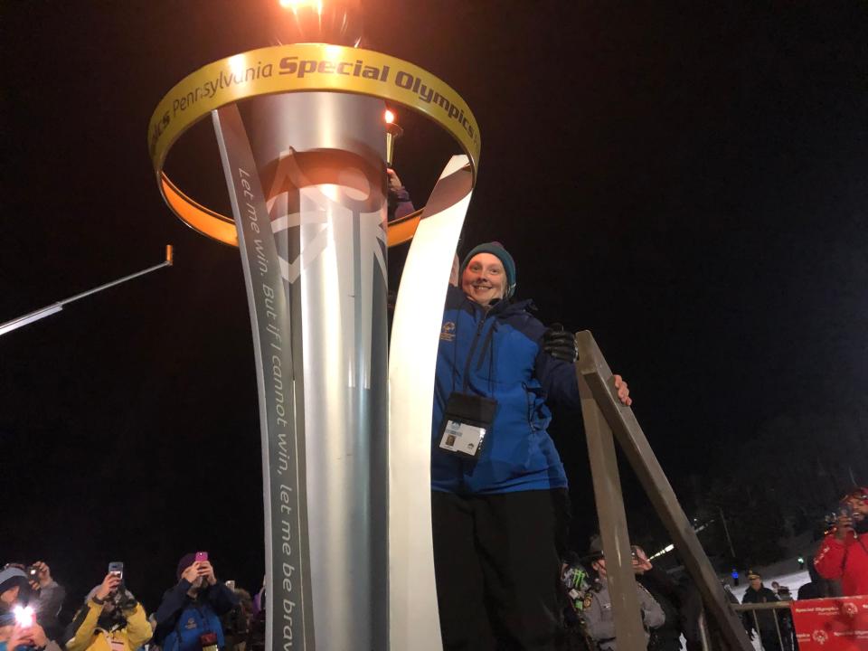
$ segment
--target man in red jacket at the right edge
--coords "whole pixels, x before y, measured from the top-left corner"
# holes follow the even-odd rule
[[[844,495],[814,565],[825,579],[841,580],[845,597],[868,595],[868,487]]]

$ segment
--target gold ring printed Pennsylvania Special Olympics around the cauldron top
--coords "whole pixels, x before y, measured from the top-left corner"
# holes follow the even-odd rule
[[[172,212],[196,231],[238,246],[235,222],[196,202],[163,171],[175,141],[189,127],[231,102],[281,92],[328,90],[368,95],[401,104],[434,120],[458,141],[473,170],[481,139],[464,99],[428,71],[382,52],[341,45],[301,43],[241,52],[184,77],[160,100],[148,124],[148,151],[156,182]],[[389,225],[389,246],[412,238],[421,211]]]

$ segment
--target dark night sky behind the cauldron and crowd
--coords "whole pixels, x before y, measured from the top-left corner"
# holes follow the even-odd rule
[[[594,332],[680,495],[764,420],[868,409],[862,0],[364,3],[371,48],[476,114],[464,241],[503,241],[518,296]],[[262,574],[239,255],[164,205],[146,127],[185,74],[273,42],[270,5],[0,9],[0,321],[176,250],[173,269],[0,338],[0,562],[44,558],[73,605],[111,560],[148,609],[184,552],[249,588]],[[421,205],[457,147],[399,116]],[[228,211],[212,137],[191,138],[178,174]],[[577,431],[555,434],[587,494]]]

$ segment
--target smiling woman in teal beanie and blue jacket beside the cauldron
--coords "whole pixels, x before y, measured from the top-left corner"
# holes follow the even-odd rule
[[[513,301],[499,242],[471,250],[450,285],[434,391],[431,512],[443,646],[553,649],[560,640],[567,477],[547,402],[579,409],[573,335]],[[616,377],[618,397],[630,403]]]

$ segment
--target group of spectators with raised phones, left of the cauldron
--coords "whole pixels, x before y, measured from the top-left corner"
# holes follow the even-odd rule
[[[250,593],[217,579],[207,552],[184,555],[177,582],[148,616],[127,586],[123,564],[84,597],[71,621],[59,615],[66,590],[43,561],[0,571],[0,651],[246,651],[264,646]],[[257,603],[261,603],[261,592]]]

